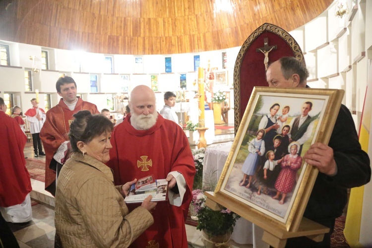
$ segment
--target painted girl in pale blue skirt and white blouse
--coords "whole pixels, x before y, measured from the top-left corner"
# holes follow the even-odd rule
[[[243,181],[239,184],[239,186],[244,186],[247,178],[249,176],[248,185],[246,188],[250,187],[250,181],[252,181],[252,176],[254,175],[258,162],[260,160],[260,156],[265,153],[265,141],[263,141],[263,137],[265,136],[265,130],[260,129],[258,130],[256,137],[253,138],[248,143],[248,151],[249,154],[246,160],[243,163],[242,171],[244,173]]]

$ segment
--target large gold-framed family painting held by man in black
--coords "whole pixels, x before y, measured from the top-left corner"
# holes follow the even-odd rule
[[[253,223],[297,229],[317,175],[303,156],[311,144],[328,143],[343,94],[254,87],[216,195],[232,200],[238,214],[258,216]]]

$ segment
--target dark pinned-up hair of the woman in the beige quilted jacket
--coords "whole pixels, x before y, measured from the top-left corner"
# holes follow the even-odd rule
[[[79,111],[73,117],[75,119],[71,123],[68,133],[73,152],[80,152],[77,148],[78,141],[87,144],[93,138],[105,132],[112,132],[114,129],[114,124],[107,117],[92,115],[88,110]]]

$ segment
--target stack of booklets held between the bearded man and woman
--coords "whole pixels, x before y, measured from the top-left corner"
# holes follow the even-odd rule
[[[153,175],[141,178],[130,187],[125,202],[142,202],[150,194],[151,201],[168,200],[168,182],[165,179],[155,179]]]

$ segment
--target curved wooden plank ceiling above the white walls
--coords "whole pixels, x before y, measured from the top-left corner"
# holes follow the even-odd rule
[[[261,24],[287,31],[333,0],[0,0],[0,40],[104,54],[241,46]]]

